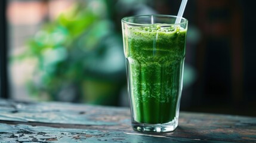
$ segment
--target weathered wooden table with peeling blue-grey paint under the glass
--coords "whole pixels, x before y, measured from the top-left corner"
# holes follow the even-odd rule
[[[129,108],[0,100],[0,142],[256,142],[256,117],[180,113],[174,132],[131,128]]]

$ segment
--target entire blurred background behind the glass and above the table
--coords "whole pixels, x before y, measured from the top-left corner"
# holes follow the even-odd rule
[[[128,106],[121,18],[177,15],[181,3],[1,1],[2,98],[115,106]],[[252,1],[187,3],[181,111],[256,116],[253,10]]]

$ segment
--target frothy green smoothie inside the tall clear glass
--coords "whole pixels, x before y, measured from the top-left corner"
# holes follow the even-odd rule
[[[131,27],[125,57],[132,116],[139,123],[168,123],[179,108],[186,30]]]

